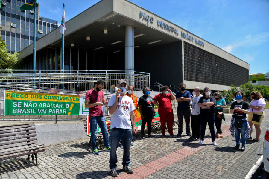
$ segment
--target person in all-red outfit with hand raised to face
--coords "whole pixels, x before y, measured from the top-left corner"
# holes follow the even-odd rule
[[[171,90],[169,90],[168,86],[163,86],[161,90],[162,93],[156,95],[153,100],[155,105],[158,107],[162,136],[165,136],[165,123],[167,123],[167,129],[170,137],[175,138],[173,133],[174,113],[171,104],[171,101],[175,99],[175,95],[171,92]]]

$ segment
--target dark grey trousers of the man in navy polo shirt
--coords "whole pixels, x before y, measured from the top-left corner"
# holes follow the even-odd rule
[[[177,110],[177,118],[178,118],[178,134],[182,134],[182,124],[183,124],[183,116],[186,124],[186,134],[190,134],[190,117],[191,117],[191,109]]]

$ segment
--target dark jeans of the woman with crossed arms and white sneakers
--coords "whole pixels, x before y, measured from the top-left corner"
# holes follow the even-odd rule
[[[200,114],[201,119],[201,140],[205,139],[205,133],[206,133],[206,124],[208,123],[208,127],[211,134],[211,141],[215,141],[215,116],[212,115],[202,115]]]

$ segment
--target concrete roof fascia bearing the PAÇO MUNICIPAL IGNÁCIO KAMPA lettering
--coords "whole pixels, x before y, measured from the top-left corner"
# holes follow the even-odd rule
[[[157,16],[156,14],[151,13],[150,11],[148,11],[142,7],[139,7],[136,4],[133,4],[127,0],[114,0],[113,2],[114,2],[114,4],[113,4],[113,11],[114,12],[121,14],[123,16],[126,16],[130,19],[133,19],[135,21],[138,21],[138,22],[145,24],[149,27],[152,27],[156,30],[163,32],[163,33],[166,33],[166,34],[173,36],[177,39],[191,43],[192,45],[194,45],[196,47],[199,47],[199,48],[206,50],[210,53],[214,53],[215,55],[217,55],[221,58],[224,58],[227,61],[238,64],[239,66],[242,66],[242,67],[249,70],[248,63],[231,55],[230,53],[227,53],[226,51],[222,50],[221,48],[203,40],[202,38],[195,36],[194,34],[188,32],[187,30],[165,20],[164,18],[161,18],[161,17]],[[142,18],[140,16],[140,12],[143,13]],[[146,15],[146,18],[148,16],[149,21],[146,18],[144,18],[144,14]],[[153,18],[153,22],[151,21],[152,20],[151,17]],[[162,26],[158,25],[158,21],[161,21],[162,24],[164,23],[167,26],[162,27]],[[166,28],[166,27],[168,27],[168,28]],[[170,30],[169,27],[172,27],[172,28],[174,27],[175,30],[172,31],[172,30]],[[184,34],[182,34],[181,32]],[[186,34],[186,36],[185,36],[185,34]],[[197,42],[201,41],[203,44],[196,43],[196,40],[197,40]]]

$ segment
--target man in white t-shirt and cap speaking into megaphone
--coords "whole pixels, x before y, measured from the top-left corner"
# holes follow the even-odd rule
[[[110,159],[109,167],[111,176],[118,176],[117,173],[117,148],[120,139],[122,138],[123,144],[123,158],[122,165],[123,170],[132,174],[133,171],[130,167],[130,143],[132,141],[132,131],[136,133],[138,130],[135,126],[135,105],[132,98],[125,94],[127,87],[127,82],[124,79],[118,81],[118,87],[112,85],[110,87],[110,93],[117,92],[113,95],[108,102],[108,111],[111,114],[111,124],[110,124]],[[133,130],[132,130],[133,125]]]

